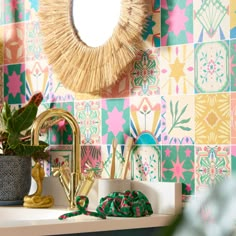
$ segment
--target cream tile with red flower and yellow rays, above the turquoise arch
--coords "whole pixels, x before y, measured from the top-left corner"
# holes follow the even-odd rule
[[[160,96],[130,98],[131,134],[137,139],[142,132],[150,132],[161,142]]]

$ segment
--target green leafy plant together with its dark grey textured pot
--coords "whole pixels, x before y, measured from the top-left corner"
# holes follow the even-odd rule
[[[43,96],[33,95],[20,109],[12,110],[5,102],[0,114],[0,205],[18,205],[31,186],[32,158],[36,161],[48,157],[40,141],[31,145],[30,128],[37,116]]]

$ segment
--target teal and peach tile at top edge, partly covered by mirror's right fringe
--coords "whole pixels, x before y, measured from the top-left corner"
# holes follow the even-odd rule
[[[147,18],[147,26],[142,37],[151,47],[160,47],[160,0],[153,0],[150,3],[150,8],[150,15]]]

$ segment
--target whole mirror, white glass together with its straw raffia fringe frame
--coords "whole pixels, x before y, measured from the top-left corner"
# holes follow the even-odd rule
[[[39,20],[44,52],[64,87],[79,93],[97,93],[115,84],[144,46],[141,35],[148,15],[146,0],[120,1],[40,0]],[[82,8],[82,2],[87,4],[85,8]],[[105,6],[98,10],[101,3]],[[83,17],[80,18],[81,14]],[[92,19],[90,25],[89,18]],[[102,23],[95,26],[101,18]],[[102,28],[105,22],[111,23],[108,35]],[[87,33],[83,35],[82,25],[93,42],[100,46],[85,39]],[[98,31],[95,32],[95,29]],[[105,38],[99,41],[100,36]]]

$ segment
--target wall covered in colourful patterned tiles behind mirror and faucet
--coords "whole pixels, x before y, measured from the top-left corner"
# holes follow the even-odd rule
[[[97,96],[66,90],[53,74],[42,50],[38,0],[0,4],[1,101],[22,104],[40,90],[41,111],[72,112],[81,128],[83,167],[102,163],[108,176],[116,137],[118,176],[131,135],[130,177],[181,182],[183,200],[236,170],[235,0],[150,0],[142,35],[149,48]],[[53,127],[48,141],[52,165],[70,159],[67,124]]]

